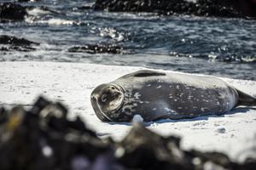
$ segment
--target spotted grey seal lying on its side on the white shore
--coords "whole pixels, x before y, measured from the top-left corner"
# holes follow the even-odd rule
[[[221,115],[237,105],[256,105],[256,99],[217,77],[142,70],[96,87],[90,96],[103,122],[145,122]]]

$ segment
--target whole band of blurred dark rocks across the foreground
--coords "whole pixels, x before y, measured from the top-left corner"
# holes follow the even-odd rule
[[[9,169],[254,169],[221,153],[182,150],[180,139],[135,124],[120,142],[104,141],[61,103],[39,98],[28,111],[0,109],[0,167]]]

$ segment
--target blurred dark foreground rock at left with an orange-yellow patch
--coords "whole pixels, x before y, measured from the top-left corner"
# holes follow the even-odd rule
[[[98,139],[79,118],[68,120],[63,105],[43,98],[30,111],[20,107],[10,111],[0,124],[0,132],[3,170],[70,169],[78,156],[93,166],[91,163],[99,156],[111,152],[108,144]]]

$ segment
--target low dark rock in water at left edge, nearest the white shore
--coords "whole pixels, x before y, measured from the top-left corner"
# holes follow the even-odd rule
[[[26,40],[25,38],[18,38],[13,36],[0,36],[0,44],[4,46],[0,46],[0,51],[10,51],[10,50],[17,50],[17,51],[33,51],[36,48],[32,48],[32,45],[39,45],[38,42],[32,42]]]

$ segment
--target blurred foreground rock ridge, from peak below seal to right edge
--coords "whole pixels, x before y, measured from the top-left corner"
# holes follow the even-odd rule
[[[122,165],[132,169],[252,169],[256,164],[251,160],[241,165],[218,152],[185,151],[179,142],[177,137],[165,138],[136,124],[116,144],[115,156]]]

